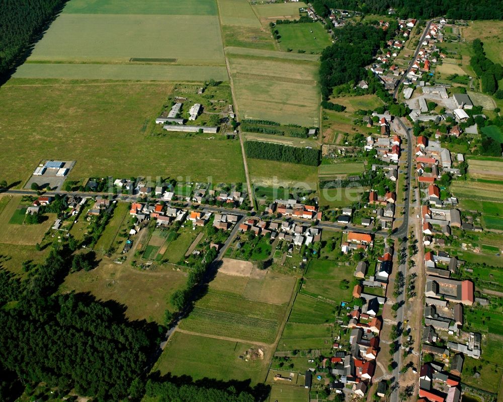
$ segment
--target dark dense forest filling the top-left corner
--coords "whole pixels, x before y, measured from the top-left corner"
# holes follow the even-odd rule
[[[0,76],[67,0],[0,1]]]

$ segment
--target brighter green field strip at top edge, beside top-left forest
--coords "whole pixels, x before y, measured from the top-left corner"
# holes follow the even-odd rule
[[[217,15],[214,0],[71,0],[63,14]]]

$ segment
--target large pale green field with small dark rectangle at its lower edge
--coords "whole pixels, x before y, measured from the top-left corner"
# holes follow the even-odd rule
[[[28,60],[127,62],[131,57],[223,63],[218,17],[62,14]]]

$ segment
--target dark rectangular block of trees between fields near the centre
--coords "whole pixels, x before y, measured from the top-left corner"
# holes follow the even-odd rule
[[[256,159],[278,160],[308,166],[318,166],[320,150],[275,144],[272,142],[245,141],[246,156]]]

